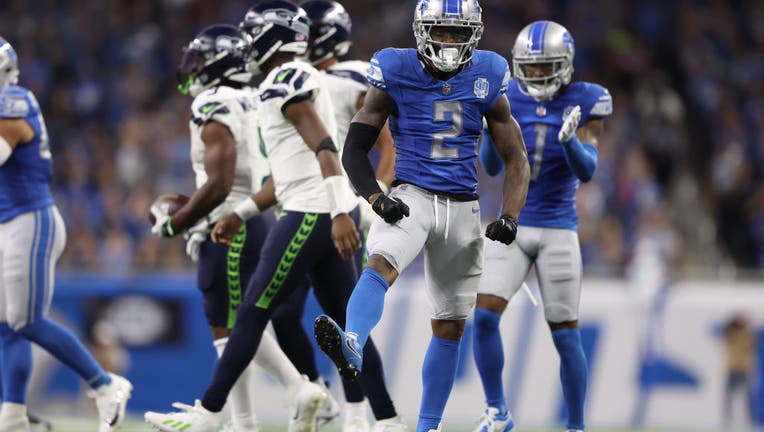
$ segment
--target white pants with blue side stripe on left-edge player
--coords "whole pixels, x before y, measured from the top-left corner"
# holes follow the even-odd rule
[[[55,206],[0,224],[0,322],[18,330],[47,315],[65,244],[66,228]]]

